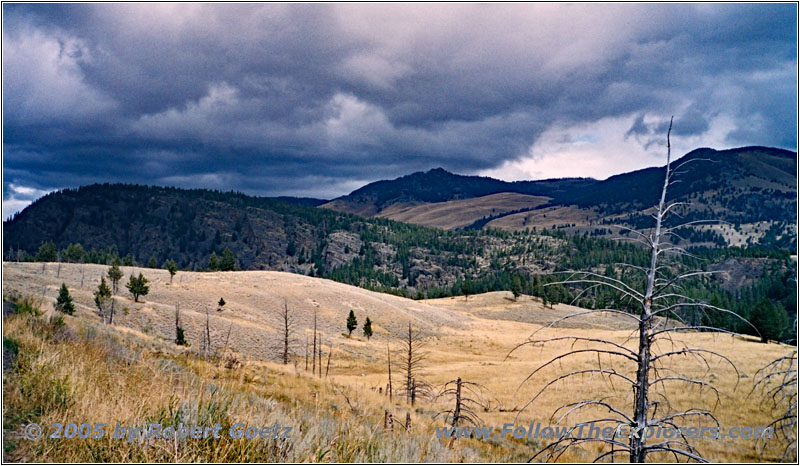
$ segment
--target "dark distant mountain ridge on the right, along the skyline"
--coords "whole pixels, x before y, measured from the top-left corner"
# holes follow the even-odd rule
[[[684,165],[686,163],[688,165]],[[758,222],[796,224],[796,152],[764,146],[726,150],[702,147],[673,160],[670,165],[673,168],[688,167],[680,175],[681,182],[671,188],[670,199],[693,202],[695,206],[689,212],[693,220],[698,219],[701,214],[707,214],[711,209],[713,213],[721,213],[722,220],[737,225]],[[610,219],[624,214],[641,217],[643,211],[651,207],[659,196],[664,170],[665,166],[648,167],[613,175],[604,180],[562,178],[507,182],[489,177],[457,175],[436,168],[394,180],[370,183],[320,207],[414,223],[413,216],[409,215],[407,209],[402,216],[394,215],[392,212],[400,210],[394,206],[416,206],[417,216],[427,218],[430,213],[426,212],[426,205],[430,205],[431,209],[441,210],[448,202],[475,199],[473,215],[470,217],[465,212],[460,223],[482,228],[504,216],[516,215],[522,220],[512,224],[494,222],[490,226],[514,229],[574,223],[575,226],[588,227],[609,223]],[[458,189],[452,189],[453,185]],[[545,196],[550,199],[546,205],[537,203],[529,208],[509,208],[505,212],[495,212],[492,215],[479,214],[483,202],[481,198],[504,192]],[[549,214],[550,218],[561,218],[561,223],[542,223],[542,219],[536,216],[517,215],[551,207],[556,208],[557,212],[555,215]],[[565,213],[566,211],[568,212]],[[641,221],[628,220],[634,221],[637,227],[641,226]],[[444,223],[420,223],[448,228]],[[452,223],[451,221],[450,224]]]

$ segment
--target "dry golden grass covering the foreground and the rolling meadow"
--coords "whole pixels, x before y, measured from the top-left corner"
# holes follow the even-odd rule
[[[55,264],[48,264],[44,274],[41,264],[4,264],[4,295],[38,294],[44,288],[42,308],[51,309],[61,280],[76,280],[79,266],[62,265],[55,277]],[[38,267],[38,269],[37,269]],[[87,266],[94,281],[105,268]],[[126,270],[126,274],[129,271]],[[90,291],[84,276],[84,288],[70,286],[79,304],[75,317],[64,317],[66,329],[40,318],[14,315],[4,318],[4,337],[19,348],[15,368],[4,376],[4,439],[10,445],[5,458],[13,461],[527,461],[541,447],[540,440],[462,439],[452,450],[434,436],[434,427],[444,423],[434,415],[446,408],[442,401],[421,401],[411,407],[405,400],[377,393],[387,383],[386,349],[389,345],[399,357],[399,336],[409,320],[413,325],[426,324],[429,335],[428,358],[421,378],[434,385],[461,377],[487,387],[493,397],[488,412],[479,413],[486,425],[502,427],[513,422],[551,424],[550,416],[561,404],[582,398],[616,397],[621,406],[630,406],[630,394],[600,378],[574,378],[559,383],[543,393],[523,411],[519,408],[550,379],[559,374],[597,364],[592,357],[573,357],[553,365],[527,383],[525,377],[545,361],[570,347],[569,342],[524,347],[509,352],[531,333],[552,318],[574,312],[576,308],[556,306],[544,309],[538,300],[509,293],[489,293],[463,298],[414,302],[394,296],[371,293],[327,280],[310,279],[271,272],[226,274],[189,274],[180,272],[176,283],[167,285],[166,272],[145,270],[153,288],[145,304],[131,305],[128,316],[113,326],[99,323],[88,307]],[[182,281],[181,280],[181,275]],[[79,280],[79,276],[77,277]],[[273,281],[270,281],[273,280]],[[262,288],[263,287],[263,288]],[[224,294],[223,294],[224,293]],[[205,304],[222,294],[226,311],[212,325],[217,332],[235,322],[236,328],[248,330],[248,338],[259,338],[263,345],[276,340],[276,321],[259,316],[269,306],[293,299],[293,309],[305,313],[312,306],[320,309],[321,327],[334,346],[330,376],[320,380],[303,370],[302,349],[297,351],[297,365],[282,366],[258,360],[255,351],[243,352],[234,346],[234,354],[244,365],[225,369],[221,361],[198,357],[192,348],[178,348],[171,343],[172,310],[164,304],[178,302],[186,314],[191,303]],[[217,298],[218,299],[218,298]],[[215,300],[214,300],[215,301]],[[212,301],[212,304],[213,302]],[[130,304],[130,303],[128,303]],[[360,308],[358,306],[361,306]],[[366,341],[360,331],[353,338],[341,335],[347,309],[362,309],[383,329]],[[202,309],[202,308],[201,308]],[[341,313],[339,313],[341,312]],[[52,312],[49,312],[52,314]],[[164,323],[156,317],[163,314]],[[185,314],[185,315],[186,315]],[[199,313],[198,313],[199,314]],[[202,314],[204,317],[204,314]],[[145,317],[143,317],[145,316]],[[236,320],[234,320],[234,318]],[[149,320],[148,320],[149,319]],[[142,323],[151,325],[143,328]],[[303,322],[302,325],[307,325]],[[164,334],[159,330],[163,327]],[[145,331],[146,330],[146,331]],[[193,333],[187,332],[190,341]],[[356,336],[359,334],[359,336]],[[232,340],[252,345],[239,333]],[[610,339],[632,346],[630,328],[624,318],[593,318],[578,321],[572,328],[552,328],[541,336],[588,336]],[[676,337],[677,338],[677,337]],[[705,367],[691,358],[675,359],[673,368],[682,373],[714,383],[723,393],[718,406],[708,390],[667,385],[667,394],[676,409],[714,408],[723,427],[762,426],[772,414],[749,396],[752,375],[766,362],[782,355],[787,348],[776,344],[731,336],[703,333],[680,335],[693,346],[704,347],[729,357],[738,367],[737,377],[723,361],[713,359]],[[669,342],[663,342],[667,349]],[[681,345],[681,342],[674,342]],[[5,346],[5,343],[4,343]],[[612,361],[601,358],[604,366]],[[617,370],[630,366],[615,363]],[[395,389],[401,374],[393,374]],[[409,433],[397,427],[384,432],[383,413],[389,410],[401,421],[412,417]],[[594,413],[566,419],[560,425],[574,425],[589,420]],[[289,443],[276,441],[185,441],[154,440],[126,443],[101,439],[28,442],[18,438],[27,422],[106,422],[135,425],[149,422],[231,425],[271,425],[278,421],[296,427],[297,437]],[[689,424],[692,425],[692,424]],[[703,425],[708,425],[703,424]],[[287,446],[290,445],[290,446]],[[776,446],[759,456],[754,440],[696,441],[700,452],[712,461],[774,460]],[[562,457],[565,461],[590,461],[597,450],[576,448]],[[669,458],[659,458],[669,460]]]

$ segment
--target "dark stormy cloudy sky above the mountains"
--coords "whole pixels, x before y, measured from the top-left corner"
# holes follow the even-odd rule
[[[797,146],[794,4],[3,4],[3,218],[125,182],[334,198]]]

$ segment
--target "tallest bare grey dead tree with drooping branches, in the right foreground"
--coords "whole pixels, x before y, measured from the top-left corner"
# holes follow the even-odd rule
[[[687,323],[685,319],[687,312],[695,310],[702,312],[714,311],[727,313],[739,319],[741,317],[726,309],[690,298],[683,293],[681,284],[685,283],[685,280],[692,277],[704,277],[713,272],[700,270],[679,272],[677,267],[666,261],[666,257],[670,255],[690,255],[684,248],[672,245],[668,241],[671,237],[677,236],[675,230],[698,223],[709,223],[709,221],[693,221],[668,227],[664,222],[669,214],[674,214],[677,209],[687,205],[685,202],[667,202],[667,192],[670,185],[678,182],[678,180],[674,179],[674,176],[681,173],[679,171],[680,168],[693,161],[683,162],[674,168],[671,166],[669,141],[671,132],[672,120],[670,120],[667,131],[667,165],[664,184],[660,200],[653,209],[652,214],[655,222],[654,227],[646,231],[626,228],[628,232],[633,234],[633,238],[620,238],[623,240],[632,239],[644,245],[650,253],[649,265],[643,267],[633,264],[617,264],[630,272],[627,278],[622,279],[594,271],[566,271],[561,272],[566,275],[565,279],[546,284],[546,286],[586,287],[578,294],[578,297],[587,290],[605,287],[622,295],[623,299],[628,303],[633,303],[637,309],[636,313],[627,312],[619,308],[576,312],[557,319],[550,325],[537,330],[527,341],[512,350],[513,352],[527,345],[544,345],[563,341],[572,342],[568,351],[539,365],[526,377],[522,384],[532,380],[544,369],[560,364],[573,356],[596,358],[596,367],[576,369],[547,381],[523,409],[533,404],[545,391],[557,386],[560,382],[569,381],[575,377],[601,378],[612,387],[615,395],[602,399],[590,397],[567,402],[553,412],[551,420],[555,423],[560,423],[571,415],[599,409],[605,411],[607,415],[601,415],[601,417],[582,424],[594,423],[595,425],[605,425],[606,427],[612,426],[615,433],[610,438],[602,436],[588,438],[581,436],[582,430],[569,430],[560,438],[545,445],[532,459],[543,456],[549,460],[558,460],[571,447],[590,442],[599,442],[605,448],[595,458],[595,461],[609,459],[613,461],[618,457],[627,456],[627,460],[632,463],[642,463],[652,453],[671,455],[676,461],[679,458],[705,461],[702,455],[692,446],[689,439],[680,432],[676,423],[685,419],[697,419],[698,422],[705,419],[719,427],[716,417],[711,410],[702,407],[683,410],[675,409],[670,404],[667,388],[674,390],[676,385],[695,387],[700,391],[710,393],[716,398],[717,403],[720,401],[720,392],[713,384],[686,376],[680,370],[670,367],[669,363],[677,358],[685,358],[709,369],[711,360],[718,359],[724,364],[730,365],[737,378],[739,373],[731,360],[722,354],[705,348],[693,347],[675,337],[679,335],[679,332],[687,331],[710,330],[732,333],[710,326]],[[623,277],[626,276],[623,275]],[[636,330],[628,340],[622,343],[605,338],[584,336],[537,338],[539,331],[551,328],[564,320],[598,313],[622,316],[622,318],[635,323]],[[635,347],[626,346],[629,344],[635,345]],[[604,359],[610,361],[606,361],[604,365]],[[615,382],[617,383],[616,386],[614,385]],[[619,388],[619,382],[622,383],[622,388]],[[633,399],[630,398],[631,394]],[[658,439],[654,443],[648,444],[645,432],[648,429],[656,428],[677,430],[678,435],[675,438]],[[620,431],[620,429],[624,430]]]

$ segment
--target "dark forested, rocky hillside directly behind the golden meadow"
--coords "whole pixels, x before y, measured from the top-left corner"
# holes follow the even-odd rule
[[[648,257],[633,242],[588,232],[445,231],[238,193],[132,185],[52,193],[4,223],[4,237],[12,261],[164,267],[171,259],[184,270],[288,271],[414,298],[514,290],[589,308],[626,304],[613,294],[545,286],[553,272],[588,268],[622,278],[630,271],[616,264],[644,265]],[[690,292],[765,315],[774,337],[786,332],[796,315],[789,251],[773,243],[692,250],[699,259],[674,266],[719,274],[690,282]],[[724,315],[693,318],[752,331]]]

